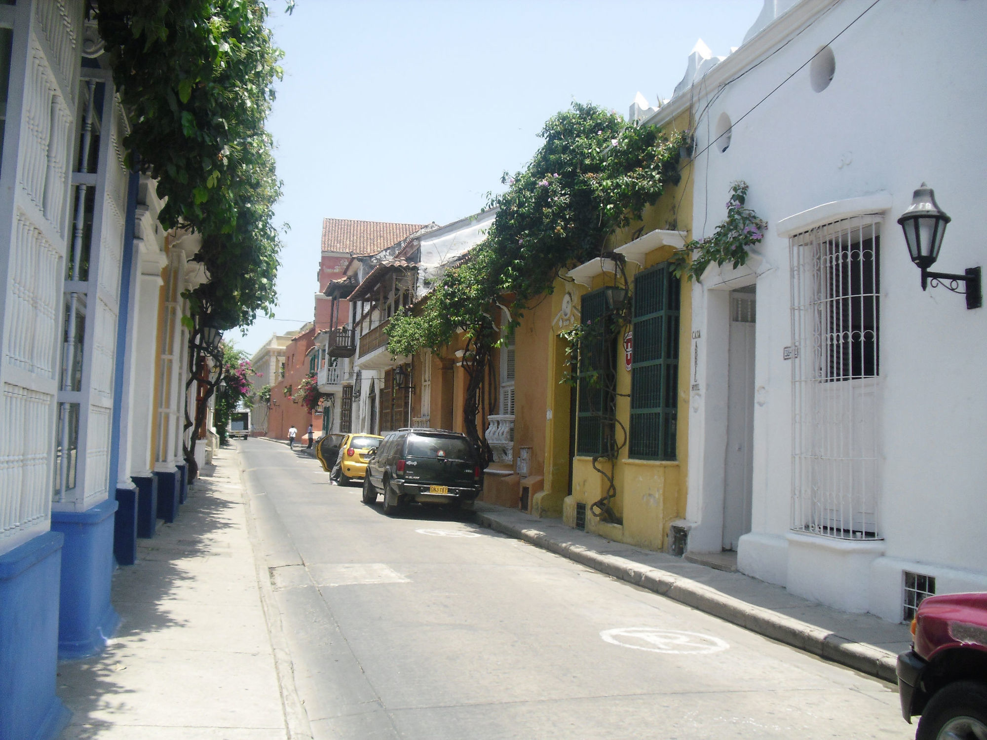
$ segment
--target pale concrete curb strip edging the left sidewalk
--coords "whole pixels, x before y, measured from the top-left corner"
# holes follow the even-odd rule
[[[274,590],[270,584],[270,574],[264,563],[264,555],[258,550],[261,542],[254,520],[251,506],[250,491],[244,481],[244,469],[240,455],[236,455],[237,474],[243,490],[244,513],[247,517],[247,537],[251,550],[254,551],[254,568],[257,571],[258,590],[261,594],[261,607],[264,609],[264,619],[267,625],[267,636],[270,639],[270,650],[274,657],[274,670],[277,673],[277,688],[281,695],[281,709],[284,712],[284,723],[288,730],[288,740],[312,740],[312,726],[309,724],[308,712],[298,697],[295,687],[295,670],[288,649],[288,639],[284,635],[280,613],[274,603]]]

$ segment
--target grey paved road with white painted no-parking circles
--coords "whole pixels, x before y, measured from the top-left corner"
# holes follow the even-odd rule
[[[887,684],[239,443],[315,738],[910,738]]]

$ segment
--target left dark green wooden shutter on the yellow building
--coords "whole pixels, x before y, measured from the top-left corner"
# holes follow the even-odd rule
[[[607,362],[607,347],[612,342],[605,332],[592,332],[592,327],[602,326],[606,310],[606,296],[603,290],[586,293],[582,297],[581,321],[588,331],[579,346],[578,378],[578,417],[576,427],[576,455],[604,454],[605,429],[612,422],[604,415],[613,413],[609,406],[607,384],[613,383],[612,363]],[[610,368],[608,372],[608,367]]]

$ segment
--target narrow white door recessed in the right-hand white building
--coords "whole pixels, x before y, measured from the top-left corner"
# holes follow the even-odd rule
[[[753,285],[730,291],[727,356],[726,460],[723,485],[723,550],[736,551],[750,532],[753,495],[754,334]]]

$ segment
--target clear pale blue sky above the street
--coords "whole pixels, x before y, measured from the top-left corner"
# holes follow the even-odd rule
[[[723,56],[762,0],[269,0],[284,80],[268,127],[286,222],[279,303],[236,344],[253,353],[312,318],[322,219],[448,223],[573,100],[627,115],[670,98],[697,38]],[[288,321],[283,321],[288,320]]]

